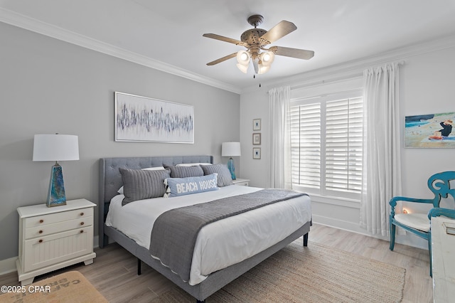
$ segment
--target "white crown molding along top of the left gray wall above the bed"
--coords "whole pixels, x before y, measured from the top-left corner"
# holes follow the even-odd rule
[[[228,90],[230,92],[240,94],[240,89],[233,85],[229,85],[227,83],[223,83],[221,81],[214,80],[212,78],[208,78],[196,73],[191,73],[190,71],[184,70],[183,68],[178,68],[174,65],[170,65],[159,60],[154,60],[144,55],[140,55],[129,50],[124,50],[123,48],[119,48],[117,46],[112,46],[109,43],[97,41],[93,38],[74,33],[73,31],[68,31],[65,28],[53,26],[52,24],[45,23],[43,21],[38,21],[35,18],[30,18],[8,9],[0,8],[0,21],[8,23],[12,26],[26,29],[28,31],[40,33],[44,36],[58,39],[60,41],[65,41],[77,46],[81,46],[83,48],[95,50],[99,53],[105,53],[106,55],[112,55],[113,57],[124,59],[132,63],[144,65],[148,68],[161,70],[165,73],[177,75],[179,77],[193,80],[198,83],[203,83],[205,85],[210,85],[222,90]]]

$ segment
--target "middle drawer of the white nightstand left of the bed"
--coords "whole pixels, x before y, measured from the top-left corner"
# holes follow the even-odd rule
[[[43,237],[53,233],[61,233],[75,228],[84,228],[93,225],[93,217],[82,217],[75,220],[68,220],[58,223],[45,224],[33,228],[26,228],[26,240],[36,237]]]

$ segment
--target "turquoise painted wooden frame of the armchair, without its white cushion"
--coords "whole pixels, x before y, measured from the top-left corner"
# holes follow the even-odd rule
[[[393,250],[395,246],[395,227],[400,226],[410,233],[414,233],[414,235],[419,236],[420,238],[424,238],[428,241],[428,252],[429,252],[429,275],[432,276],[432,241],[431,241],[431,230],[428,232],[417,230],[410,226],[404,225],[397,220],[395,220],[395,206],[397,206],[398,201],[405,201],[405,202],[414,202],[414,203],[428,203],[432,204],[433,208],[429,211],[428,216],[429,219],[431,218],[430,214],[434,214],[434,216],[445,216],[444,213],[447,213],[446,208],[440,208],[441,211],[434,211],[434,208],[439,208],[439,203],[441,202],[441,198],[448,198],[449,195],[452,196],[455,200],[455,188],[450,188],[450,181],[455,180],[455,171],[443,171],[441,173],[434,174],[429,177],[427,181],[428,188],[430,191],[434,193],[434,198],[432,199],[422,199],[422,198],[409,198],[403,196],[393,197],[390,200],[390,250]],[[450,210],[448,210],[450,211]],[[440,214],[440,215],[438,215]]]

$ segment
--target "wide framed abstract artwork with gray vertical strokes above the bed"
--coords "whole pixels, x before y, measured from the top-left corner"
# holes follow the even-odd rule
[[[115,141],[194,143],[194,107],[115,92]]]

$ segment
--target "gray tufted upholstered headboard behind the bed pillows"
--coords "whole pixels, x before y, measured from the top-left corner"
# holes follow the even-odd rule
[[[100,247],[104,237],[105,219],[111,199],[122,186],[119,167],[145,169],[147,167],[176,165],[181,163],[213,163],[213,156],[144,156],[131,158],[100,159],[100,183],[98,184],[98,212]]]

